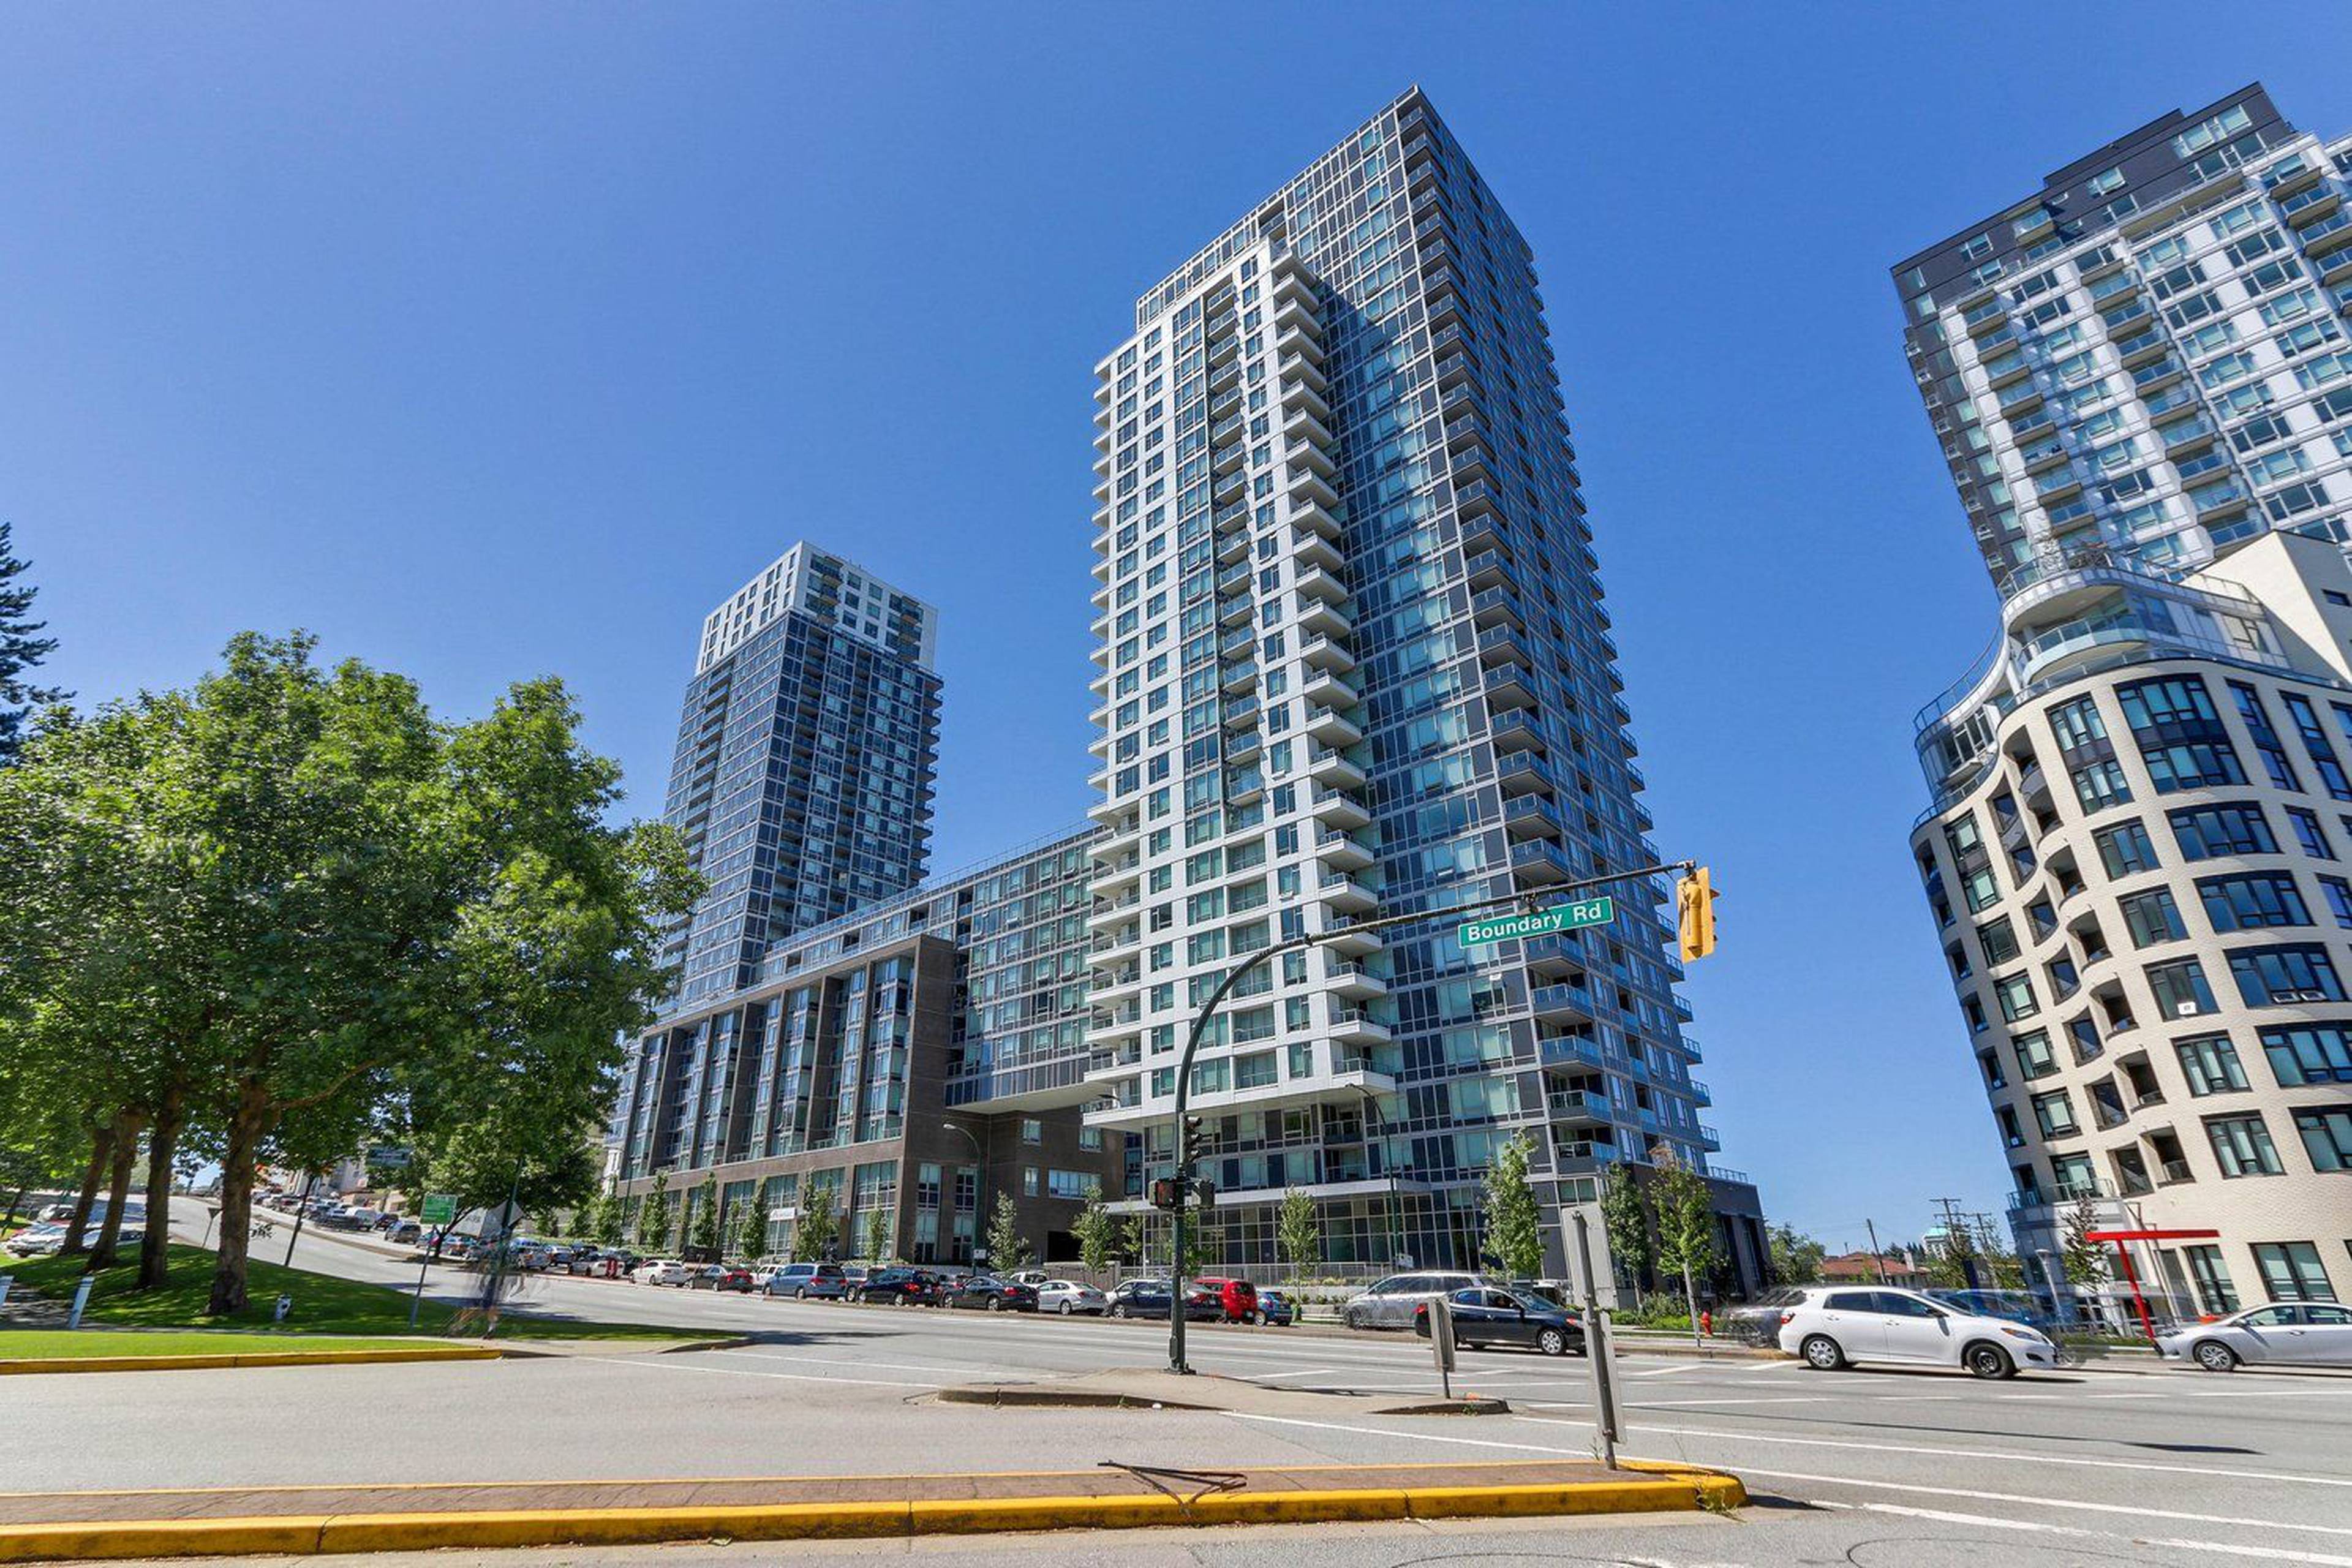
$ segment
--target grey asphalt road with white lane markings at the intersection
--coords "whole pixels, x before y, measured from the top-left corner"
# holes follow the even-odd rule
[[[296,1262],[306,1267],[402,1276],[397,1260],[332,1234],[313,1241],[306,1232],[301,1248]],[[1590,1371],[1581,1359],[1465,1352],[1456,1387],[1501,1394],[1515,1408],[1479,1420],[985,1410],[922,1396],[957,1382],[1155,1366],[1167,1328],[710,1298],[572,1279],[536,1288],[534,1307],[548,1312],[717,1326],[760,1340],[670,1356],[19,1378],[7,1389],[9,1486],[887,1474],[1101,1460],[1371,1465],[1449,1453],[1583,1455],[1592,1441]],[[1435,1392],[1428,1347],[1406,1338],[1195,1328],[1192,1345],[1202,1371],[1277,1387]],[[2352,1568],[2352,1380],[2077,1373],[1987,1385],[1957,1373],[1813,1373],[1795,1363],[1639,1354],[1625,1356],[1621,1371],[1628,1455],[1733,1469],[1764,1502],[1738,1523],[1691,1519],[1599,1533],[1383,1528],[1350,1537],[1355,1554],[1331,1561]],[[28,1434],[38,1439],[24,1441]],[[1145,1537],[1117,1547],[1117,1561],[1131,1568],[1279,1556],[1305,1568],[1338,1549],[1329,1533],[1312,1542],[1284,1530],[1185,1535],[1183,1544]],[[1007,1561],[1004,1549],[1004,1542],[915,1547],[974,1563]],[[729,1552],[739,1561],[811,1554],[807,1547]],[[1096,1552],[1112,1547],[1056,1542],[1051,1561],[1089,1561]],[[1171,1552],[1178,1556],[1164,1556]],[[562,1552],[534,1561],[595,1559]]]

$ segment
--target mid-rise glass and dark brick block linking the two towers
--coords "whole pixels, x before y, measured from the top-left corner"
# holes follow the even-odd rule
[[[771,943],[741,987],[630,1041],[614,1190],[654,1175],[684,1208],[717,1182],[769,1251],[818,1192],[840,1255],[971,1262],[1000,1197],[1040,1258],[1070,1258],[1089,1190],[1115,1197],[1124,1138],[1080,1126],[1094,827]]]

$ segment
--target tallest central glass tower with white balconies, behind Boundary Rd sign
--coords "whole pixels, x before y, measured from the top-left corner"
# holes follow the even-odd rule
[[[1171,1161],[1192,1011],[1251,950],[1658,860],[1534,259],[1421,92],[1136,301],[1096,386],[1091,1079],[1127,1192]],[[1454,919],[1287,957],[1195,1067],[1207,1239],[1470,1265],[1477,1178],[1536,1143],[1552,1218],[1658,1145],[1715,1178],[1665,889],[1465,952]]]

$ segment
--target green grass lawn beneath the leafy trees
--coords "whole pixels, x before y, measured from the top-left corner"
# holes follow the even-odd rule
[[[449,1331],[454,1307],[426,1302],[409,1328],[409,1293],[388,1286],[369,1286],[355,1279],[287,1269],[261,1258],[247,1265],[247,1293],[252,1307],[235,1316],[216,1319],[205,1314],[212,1298],[214,1255],[200,1246],[172,1244],[172,1269],[160,1291],[134,1291],[139,1281],[136,1260],[99,1274],[89,1291],[85,1324],[103,1328],[270,1328],[285,1335],[405,1335]],[[19,1288],[33,1288],[49,1300],[73,1300],[73,1284],[82,1276],[80,1258],[28,1258],[0,1265],[0,1274],[14,1274]],[[294,1298],[294,1312],[285,1324],[273,1324],[270,1312],[280,1295]],[[499,1319],[501,1340],[708,1340],[717,1338],[708,1328],[654,1328],[642,1324],[576,1324],[569,1319],[532,1319],[508,1314]],[[96,1354],[96,1352],[89,1352]]]

